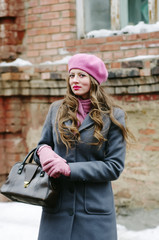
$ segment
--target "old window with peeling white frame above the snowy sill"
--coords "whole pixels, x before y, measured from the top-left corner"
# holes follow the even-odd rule
[[[159,0],[76,0],[77,37],[93,30],[119,30],[159,21]]]

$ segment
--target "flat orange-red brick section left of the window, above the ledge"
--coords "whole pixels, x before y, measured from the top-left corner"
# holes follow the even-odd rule
[[[33,63],[54,61],[65,42],[76,38],[75,1],[30,1],[27,9],[26,56]]]

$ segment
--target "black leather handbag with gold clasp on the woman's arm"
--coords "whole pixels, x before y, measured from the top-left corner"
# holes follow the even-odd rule
[[[54,207],[58,201],[59,183],[33,162],[35,150],[30,151],[23,162],[12,167],[1,193],[12,201]]]

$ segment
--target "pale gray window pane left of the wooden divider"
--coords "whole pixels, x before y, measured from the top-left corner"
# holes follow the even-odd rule
[[[85,32],[110,29],[110,0],[84,0]]]

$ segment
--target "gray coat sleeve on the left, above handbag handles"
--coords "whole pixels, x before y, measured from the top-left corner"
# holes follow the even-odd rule
[[[40,141],[37,145],[37,148],[34,152],[34,160],[37,164],[40,164],[40,159],[39,156],[37,155],[37,150],[40,148],[40,146],[47,144],[49,146],[52,147],[52,149],[54,148],[54,143],[53,143],[53,136],[52,136],[52,106],[50,106],[49,112],[46,116],[45,122],[44,122],[44,126],[43,126],[43,130],[41,133],[41,138]]]

